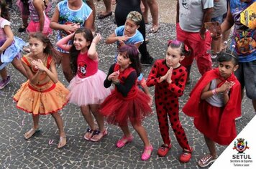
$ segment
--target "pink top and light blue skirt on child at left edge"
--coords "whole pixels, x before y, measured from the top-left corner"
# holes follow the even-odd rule
[[[6,34],[4,33],[4,26],[10,26],[11,23],[4,18],[0,18],[0,47],[6,41]],[[0,69],[3,69],[6,64],[12,62],[15,57],[19,57],[19,52],[22,50],[22,47],[26,44],[22,39],[14,37],[14,42],[7,47],[1,54],[1,65]]]

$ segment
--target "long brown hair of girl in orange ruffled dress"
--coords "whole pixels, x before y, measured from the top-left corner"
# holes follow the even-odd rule
[[[48,54],[50,56],[52,56],[52,58],[55,60],[56,63],[60,62],[60,55],[58,54],[58,52],[54,49],[52,43],[50,42],[50,39],[48,39],[44,34],[42,34],[41,32],[35,32],[35,33],[31,33],[29,34],[29,39],[30,38],[35,38],[40,40],[43,44],[46,44],[45,49],[43,50],[43,52],[45,54]]]

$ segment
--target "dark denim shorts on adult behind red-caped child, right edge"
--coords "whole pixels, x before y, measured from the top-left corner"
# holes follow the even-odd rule
[[[239,62],[239,68],[234,72],[242,89],[245,87],[246,95],[256,100],[256,60],[252,62]]]

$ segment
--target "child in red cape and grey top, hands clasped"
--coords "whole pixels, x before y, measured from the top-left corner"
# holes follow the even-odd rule
[[[206,72],[193,88],[183,107],[186,115],[194,117],[195,127],[204,134],[210,154],[198,160],[200,167],[213,163],[215,143],[229,145],[237,135],[235,118],[241,115],[241,87],[234,76],[238,60],[224,53],[218,58],[219,68]]]

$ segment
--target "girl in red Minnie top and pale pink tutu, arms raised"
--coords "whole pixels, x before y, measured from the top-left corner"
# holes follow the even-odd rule
[[[73,43],[69,45],[68,41],[72,37]],[[83,117],[89,125],[84,139],[91,141],[99,141],[107,135],[104,117],[99,114],[99,104],[111,93],[109,89],[104,88],[106,74],[98,69],[99,57],[96,44],[100,40],[100,34],[93,38],[90,29],[81,28],[57,43],[58,47],[70,52],[71,68],[76,77],[70,81],[68,86],[70,90],[68,98],[71,103],[81,107]],[[99,130],[96,129],[91,112],[96,118]]]

